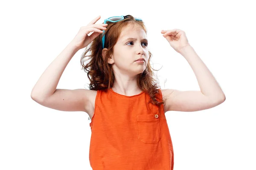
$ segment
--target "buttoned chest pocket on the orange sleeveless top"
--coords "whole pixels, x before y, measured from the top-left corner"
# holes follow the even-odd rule
[[[144,143],[158,143],[160,141],[158,113],[137,115],[137,136]]]

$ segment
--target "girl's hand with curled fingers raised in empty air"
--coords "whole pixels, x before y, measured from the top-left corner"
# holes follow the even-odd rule
[[[182,48],[189,45],[186,33],[180,29],[162,30],[161,33],[178,53]]]

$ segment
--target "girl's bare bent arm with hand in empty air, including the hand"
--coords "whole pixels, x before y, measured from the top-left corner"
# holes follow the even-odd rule
[[[184,31],[179,29],[161,31],[172,48],[180,53],[189,63],[201,91],[162,90],[166,99],[166,111],[200,111],[215,107],[225,101],[226,97],[207,66],[189,45]]]

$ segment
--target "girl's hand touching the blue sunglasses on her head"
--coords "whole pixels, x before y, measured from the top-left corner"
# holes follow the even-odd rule
[[[100,16],[94,18],[87,26],[82,26],[70,43],[75,45],[78,50],[89,45],[99,34],[103,33],[102,30],[107,29],[108,24],[95,24],[99,19]],[[93,34],[88,36],[90,32],[93,32]]]

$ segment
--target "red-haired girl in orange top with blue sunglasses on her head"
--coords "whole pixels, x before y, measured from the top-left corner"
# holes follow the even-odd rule
[[[158,87],[149,64],[151,53],[143,20],[127,15],[95,24],[99,19],[80,28],[41,75],[31,97],[48,108],[88,113],[93,170],[173,170],[174,152],[165,113],[212,108],[224,102],[225,95],[184,31],[161,33],[189,62],[201,91]],[[90,32],[93,34],[88,36]],[[81,65],[90,79],[90,90],[56,89],[70,59],[89,44]],[[86,58],[89,62],[84,65]]]

